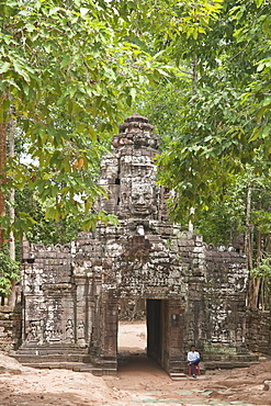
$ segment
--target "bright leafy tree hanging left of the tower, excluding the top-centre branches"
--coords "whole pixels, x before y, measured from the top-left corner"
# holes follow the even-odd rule
[[[99,20],[99,4],[11,1],[2,2],[0,11],[2,138],[12,104],[34,159],[31,165],[12,159],[7,177],[18,188],[27,183],[43,201],[58,198],[48,207],[48,218],[87,215],[95,196],[104,194],[95,183],[103,150],[98,137],[113,131],[142,76],[136,67],[144,70],[149,58],[118,42],[113,27]],[[5,182],[9,188],[11,183]],[[104,214],[90,213],[86,227],[98,218]],[[30,225],[27,215],[22,221]]]

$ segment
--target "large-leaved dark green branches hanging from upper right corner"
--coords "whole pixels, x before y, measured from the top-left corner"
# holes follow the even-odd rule
[[[268,111],[261,110],[264,123],[260,123],[261,102],[253,102],[256,84],[251,84],[262,83],[259,60],[267,56],[268,41],[259,46],[259,38],[267,36],[262,25],[268,10],[268,3],[225,1],[213,31],[188,44],[190,55],[196,56],[196,75],[188,76],[190,88],[177,90],[182,93],[182,101],[180,95],[177,99],[181,117],[174,133],[179,134],[169,139],[159,160],[160,182],[174,190],[170,202],[174,219],[183,219],[191,206],[197,214],[214,200],[223,200],[227,185],[245,172],[247,163],[258,173],[269,165]],[[251,22],[253,30],[248,27]],[[185,58],[183,53],[189,66],[191,56]],[[261,97],[266,108],[268,95]]]

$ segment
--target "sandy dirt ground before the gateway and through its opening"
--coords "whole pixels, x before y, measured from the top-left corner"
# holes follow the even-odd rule
[[[211,371],[196,380],[171,381],[144,353],[144,323],[121,323],[118,337],[121,362],[115,376],[35,370],[0,353],[0,406],[271,405],[271,360]]]

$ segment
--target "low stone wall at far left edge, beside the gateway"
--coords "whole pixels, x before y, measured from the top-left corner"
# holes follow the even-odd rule
[[[21,345],[21,312],[0,306],[0,351],[10,352]]]

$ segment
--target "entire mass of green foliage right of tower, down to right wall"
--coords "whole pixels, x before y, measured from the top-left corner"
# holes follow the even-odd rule
[[[225,0],[204,35],[165,44],[178,53],[174,75],[137,101],[162,137],[171,218],[192,219],[207,243],[235,246],[242,235],[250,270],[270,252],[270,24],[269,1]]]

